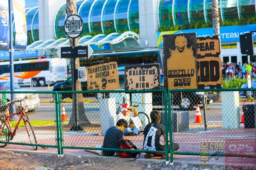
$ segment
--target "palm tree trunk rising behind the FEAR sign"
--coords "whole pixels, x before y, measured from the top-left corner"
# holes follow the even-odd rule
[[[213,9],[214,35],[219,35],[219,39],[220,39],[220,13],[219,13],[219,1],[218,0],[212,0],[212,9]],[[221,56],[221,47],[220,47],[220,56]],[[217,92],[217,100],[220,101],[220,99],[221,99],[221,92]]]

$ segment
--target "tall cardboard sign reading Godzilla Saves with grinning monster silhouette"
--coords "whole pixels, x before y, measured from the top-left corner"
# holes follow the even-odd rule
[[[196,33],[163,35],[164,88],[197,89]]]

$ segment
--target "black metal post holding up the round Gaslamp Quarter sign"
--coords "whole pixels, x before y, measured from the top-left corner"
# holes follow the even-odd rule
[[[76,68],[76,41],[75,38],[72,38],[72,46],[73,46],[73,77],[72,84],[74,85],[74,91],[77,90],[77,80],[78,80],[78,72]],[[75,110],[75,124],[70,128],[71,131],[83,131],[82,126],[79,125],[79,113],[78,113],[78,102],[77,102],[77,93],[73,93],[73,107]]]

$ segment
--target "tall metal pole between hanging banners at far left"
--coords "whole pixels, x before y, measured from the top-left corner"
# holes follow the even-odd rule
[[[12,27],[13,19],[12,19],[12,1],[9,0],[9,25],[10,25],[10,85],[11,91],[15,91],[14,89],[14,68],[13,68],[13,27]],[[15,94],[11,93],[11,100],[15,100]],[[15,105],[11,106],[10,110],[11,114],[16,112]],[[19,119],[17,115],[13,115],[10,120]]]

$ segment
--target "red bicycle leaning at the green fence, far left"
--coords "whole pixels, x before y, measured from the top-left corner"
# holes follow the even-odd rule
[[[25,108],[25,99],[28,99],[29,96],[25,96],[23,99],[20,100],[13,100],[10,102],[7,102],[5,105],[0,106],[0,111],[5,111],[5,112],[0,112],[0,142],[1,141],[11,141],[13,140],[13,137],[16,135],[16,130],[19,127],[19,124],[21,122],[21,119],[23,119],[25,128],[26,128],[26,132],[29,136],[30,142],[31,144],[37,144],[36,141],[36,135],[35,132],[33,130],[33,127],[31,125],[30,119],[28,117],[28,115],[26,115],[26,108]],[[20,103],[20,106],[18,108],[18,112],[13,113],[13,115],[17,115],[20,114],[20,119],[18,120],[18,123],[16,124],[14,130],[12,131],[11,125],[10,125],[10,121],[9,118],[12,117],[12,115],[10,115],[9,113],[9,108],[11,104],[14,103]],[[5,147],[7,144],[3,144],[0,143],[0,147],[3,148]],[[37,146],[33,146],[34,150],[37,150]]]

